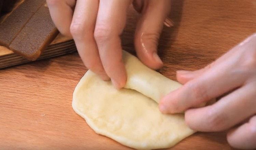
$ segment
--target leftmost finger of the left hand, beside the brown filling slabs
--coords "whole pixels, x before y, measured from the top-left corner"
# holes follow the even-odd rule
[[[69,27],[73,16],[75,0],[46,0],[55,26],[61,34],[72,37]],[[65,16],[65,17],[63,17]]]

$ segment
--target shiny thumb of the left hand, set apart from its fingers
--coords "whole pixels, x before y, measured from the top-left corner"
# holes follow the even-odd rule
[[[168,13],[170,0],[144,1],[141,18],[138,21],[134,46],[140,60],[152,69],[159,69],[163,63],[157,55],[160,33]]]

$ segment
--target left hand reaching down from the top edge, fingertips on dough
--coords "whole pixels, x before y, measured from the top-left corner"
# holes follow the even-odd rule
[[[170,0],[47,0],[58,30],[73,37],[85,66],[117,88],[126,83],[119,35],[126,22],[126,11],[133,6],[141,17],[134,36],[140,60],[158,69],[162,61],[157,44],[163,22],[170,10]]]

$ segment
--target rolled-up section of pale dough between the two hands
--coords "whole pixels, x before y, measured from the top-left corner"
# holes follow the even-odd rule
[[[125,88],[136,90],[157,103],[159,103],[162,96],[181,87],[179,82],[170,80],[148,68],[137,57],[126,51],[123,51],[123,61],[127,72]]]

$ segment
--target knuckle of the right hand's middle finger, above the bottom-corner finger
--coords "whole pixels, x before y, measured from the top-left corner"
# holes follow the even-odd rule
[[[225,116],[217,110],[209,109],[206,112],[205,119],[207,119],[206,124],[209,126],[210,131],[222,131],[225,129]]]

